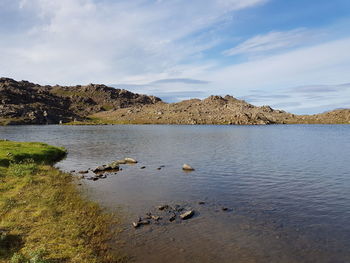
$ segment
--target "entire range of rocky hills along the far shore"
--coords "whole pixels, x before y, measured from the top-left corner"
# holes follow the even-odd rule
[[[40,86],[0,78],[0,124],[296,124],[350,123],[350,109],[294,115],[232,96],[165,103],[105,85]]]

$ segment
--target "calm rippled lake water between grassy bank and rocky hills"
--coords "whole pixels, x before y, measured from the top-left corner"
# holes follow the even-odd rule
[[[350,262],[349,125],[10,126],[0,138],[64,146],[66,171],[136,158],[84,180],[91,198],[123,211],[121,247],[136,262]],[[132,229],[164,203],[196,217]]]

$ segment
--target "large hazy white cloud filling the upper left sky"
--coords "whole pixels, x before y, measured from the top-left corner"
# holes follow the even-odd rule
[[[216,44],[186,38],[229,12],[263,2],[21,0],[19,12],[35,14],[38,23],[26,32],[0,36],[5,58],[0,68],[6,76],[41,83],[186,77],[184,61]]]

